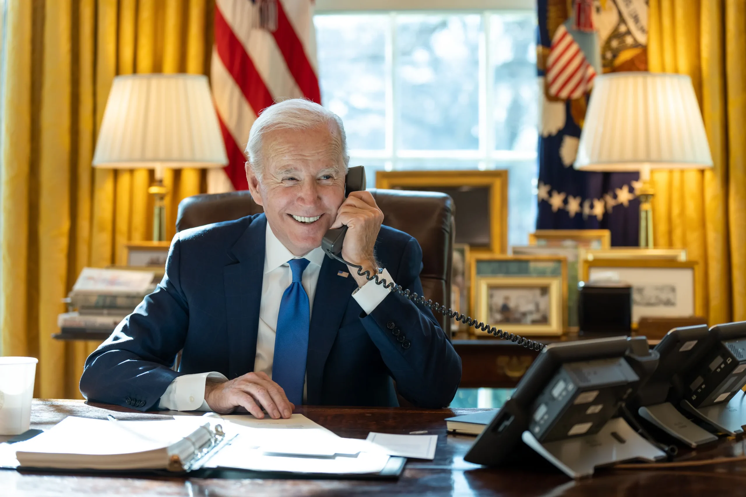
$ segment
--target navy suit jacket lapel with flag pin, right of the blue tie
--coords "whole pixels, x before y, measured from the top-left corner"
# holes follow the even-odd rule
[[[306,402],[309,405],[319,405],[321,402],[324,365],[352,291],[357,288],[352,276],[343,278],[337,275],[340,270],[349,271],[342,262],[325,257],[319,282],[316,283],[306,359]]]

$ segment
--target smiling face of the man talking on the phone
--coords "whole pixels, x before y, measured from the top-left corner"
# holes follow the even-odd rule
[[[336,130],[335,130],[336,131]],[[263,136],[261,181],[246,165],[248,189],[269,227],[295,256],[321,246],[345,200],[345,162],[327,126]]]

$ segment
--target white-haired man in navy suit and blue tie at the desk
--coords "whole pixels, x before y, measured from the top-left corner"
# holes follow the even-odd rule
[[[321,249],[327,229],[346,225],[342,259],[422,293],[417,241],[382,227],[367,191],[345,198],[339,117],[310,101],[275,104],[246,152],[264,214],[175,236],[163,281],[87,359],[84,396],[287,418],[301,403],[398,405],[396,382],[414,405],[448,405],[461,361],[433,314]]]

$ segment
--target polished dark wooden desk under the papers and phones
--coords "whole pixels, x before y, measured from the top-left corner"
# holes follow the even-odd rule
[[[32,427],[48,428],[66,416],[105,419],[112,408],[122,420],[154,420],[125,408],[86,405],[78,400],[36,400]],[[113,478],[87,475],[31,475],[0,470],[2,496],[732,496],[746,493],[746,463],[727,463],[667,471],[599,472],[571,481],[556,469],[491,469],[466,463],[474,437],[445,433],[445,417],[475,409],[317,408],[296,412],[344,437],[364,438],[369,431],[407,434],[424,430],[439,436],[435,460],[410,460],[398,481],[217,480],[201,478]],[[721,439],[709,449],[681,458],[742,455],[742,440]]]

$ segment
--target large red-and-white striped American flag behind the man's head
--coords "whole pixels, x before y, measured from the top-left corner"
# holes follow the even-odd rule
[[[312,0],[216,0],[210,68],[228,165],[210,170],[207,191],[248,187],[243,150],[257,115],[275,101],[321,103]]]

